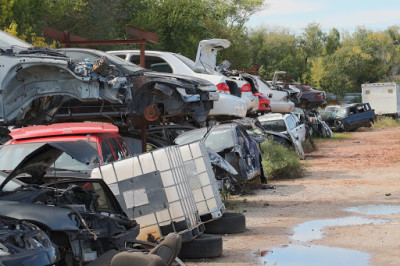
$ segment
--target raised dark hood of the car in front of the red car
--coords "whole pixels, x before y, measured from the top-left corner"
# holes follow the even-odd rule
[[[41,183],[41,178],[63,152],[84,164],[98,164],[101,161],[97,150],[86,141],[46,143],[28,154],[15,167],[3,183],[0,184],[0,191],[10,180],[22,173],[31,175],[32,183]]]

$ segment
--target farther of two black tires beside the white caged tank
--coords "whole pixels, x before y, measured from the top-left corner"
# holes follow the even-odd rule
[[[246,217],[243,213],[225,212],[221,218],[205,223],[208,234],[237,234],[246,230]]]

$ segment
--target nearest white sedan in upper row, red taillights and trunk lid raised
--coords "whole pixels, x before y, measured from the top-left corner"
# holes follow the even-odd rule
[[[145,68],[158,72],[199,77],[215,84],[220,92],[220,99],[214,103],[214,108],[211,109],[209,115],[245,117],[247,111],[257,111],[259,105],[258,97],[253,95],[248,82],[238,82],[216,72],[214,68],[217,51],[211,50],[213,49],[210,49],[208,45],[201,45],[201,48],[199,45],[197,56],[199,59],[196,62],[172,52],[146,51]],[[131,63],[140,63],[139,50],[108,51],[108,53],[119,56]],[[241,95],[241,98],[235,95]]]

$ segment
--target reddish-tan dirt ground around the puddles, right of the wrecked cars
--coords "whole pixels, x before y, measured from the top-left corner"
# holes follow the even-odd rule
[[[263,259],[291,244],[323,245],[366,252],[370,265],[400,265],[400,214],[364,215],[345,208],[370,204],[400,206],[400,128],[348,133],[351,138],[318,142],[307,154],[304,178],[272,181],[234,197],[245,211],[247,230],[223,236],[223,256],[188,265],[271,265]],[[357,216],[385,224],[332,226],[323,237],[299,242],[293,229],[307,221]],[[278,263],[279,265],[279,263]]]

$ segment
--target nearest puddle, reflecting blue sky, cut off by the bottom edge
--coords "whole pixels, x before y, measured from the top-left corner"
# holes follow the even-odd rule
[[[369,254],[345,248],[332,248],[319,245],[289,245],[276,248],[261,258],[264,265],[278,266],[364,266],[368,264]]]

